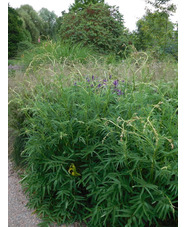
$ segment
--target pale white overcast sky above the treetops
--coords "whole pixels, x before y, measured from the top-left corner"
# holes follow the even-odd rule
[[[54,11],[57,16],[61,16],[61,12],[68,11],[70,4],[73,4],[74,0],[8,0],[9,4],[13,8],[18,8],[21,5],[29,4],[34,10],[39,11],[41,8],[47,8],[50,11]],[[119,12],[124,16],[125,26],[130,31],[136,27],[136,22],[145,14],[145,0],[105,0],[109,5],[119,6]],[[177,0],[171,0],[172,3],[177,4]],[[176,22],[177,15],[172,18],[173,22]]]

